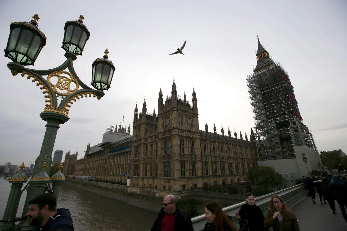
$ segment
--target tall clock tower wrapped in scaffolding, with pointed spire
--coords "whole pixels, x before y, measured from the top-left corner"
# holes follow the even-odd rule
[[[295,158],[302,164],[304,152],[310,169],[318,169],[321,160],[313,136],[302,122],[289,75],[279,63],[272,61],[257,39],[257,65],[247,77],[247,86],[255,121],[258,164],[272,166],[274,162],[262,161]],[[292,164],[287,166],[295,168],[295,163]],[[283,165],[286,164],[283,162],[280,166]],[[297,171],[296,177],[300,174],[302,172]]]

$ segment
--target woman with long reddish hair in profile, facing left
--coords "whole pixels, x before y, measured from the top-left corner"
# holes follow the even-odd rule
[[[212,202],[205,207],[204,231],[237,231],[237,228],[231,218],[222,211],[222,207]]]

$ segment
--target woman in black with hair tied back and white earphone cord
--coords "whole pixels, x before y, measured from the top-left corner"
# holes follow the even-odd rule
[[[240,231],[269,231],[264,228],[264,214],[261,209],[255,205],[255,199],[252,193],[246,193],[246,204],[242,205],[240,211],[234,212],[234,216],[240,220]]]

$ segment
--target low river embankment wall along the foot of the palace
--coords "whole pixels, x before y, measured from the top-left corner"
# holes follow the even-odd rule
[[[164,194],[153,190],[142,190],[134,193],[129,192],[129,187],[125,185],[71,178],[67,178],[64,184],[113,198],[152,212],[158,212],[162,207],[161,202],[163,201],[163,197],[170,194],[170,192]],[[192,217],[203,214],[205,204],[211,201],[219,203],[222,207],[226,207],[244,200],[243,195],[212,193],[200,190],[189,190],[174,194],[174,196],[178,200],[178,206]]]

